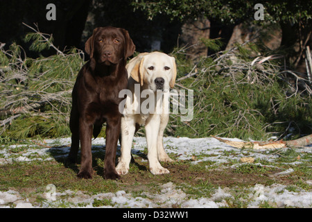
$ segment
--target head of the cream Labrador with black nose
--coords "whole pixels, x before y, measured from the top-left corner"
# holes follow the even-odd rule
[[[175,58],[165,53],[141,53],[130,60],[127,69],[134,80],[154,92],[157,89],[168,92],[175,85]]]

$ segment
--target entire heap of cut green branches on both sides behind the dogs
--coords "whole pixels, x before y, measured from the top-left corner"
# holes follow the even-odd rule
[[[56,54],[27,58],[20,46],[0,51],[0,135],[3,138],[67,137],[71,90],[84,64],[83,51],[61,52],[51,36],[26,35],[31,49],[55,49]],[[202,40],[218,49],[218,40]],[[214,46],[214,44],[216,44]],[[257,47],[243,44],[201,58],[194,65],[184,49],[173,51],[177,89],[193,89],[193,120],[171,114],[166,135],[267,139],[272,135],[299,137],[312,133],[311,88],[308,82],[275,60],[250,58]]]

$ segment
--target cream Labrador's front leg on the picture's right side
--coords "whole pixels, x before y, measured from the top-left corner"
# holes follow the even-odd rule
[[[169,173],[168,169],[162,167],[157,157],[157,135],[159,132],[160,117],[159,114],[150,114],[146,121],[146,142],[148,146],[148,162],[150,172],[154,175]]]

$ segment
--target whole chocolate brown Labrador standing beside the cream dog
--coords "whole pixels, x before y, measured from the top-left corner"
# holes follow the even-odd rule
[[[123,28],[95,28],[85,43],[90,60],[80,69],[73,86],[71,117],[71,150],[69,161],[77,162],[79,140],[81,169],[79,178],[92,178],[91,140],[106,127],[104,178],[119,178],[115,169],[117,141],[121,130],[119,91],[126,89],[128,74],[126,60],[135,51],[128,31]]]

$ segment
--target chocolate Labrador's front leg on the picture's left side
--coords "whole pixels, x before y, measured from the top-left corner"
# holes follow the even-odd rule
[[[92,139],[92,124],[88,123],[85,119],[79,119],[79,134],[81,145],[81,168],[78,173],[79,178],[89,179],[92,178],[92,152],[91,152],[91,139]]]

